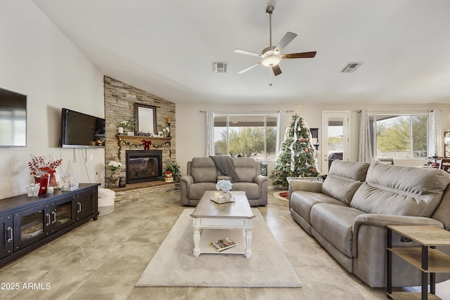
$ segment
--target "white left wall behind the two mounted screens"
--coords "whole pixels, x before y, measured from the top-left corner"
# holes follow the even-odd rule
[[[103,74],[32,1],[0,1],[0,41],[0,87],[27,95],[27,147],[0,148],[0,199],[25,193],[30,155],[54,154],[63,159],[58,172],[70,162],[79,183],[101,183],[103,149],[62,149],[58,141],[62,107],[104,117]]]

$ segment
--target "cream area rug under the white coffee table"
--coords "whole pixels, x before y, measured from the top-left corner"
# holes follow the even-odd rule
[[[136,287],[302,287],[302,283],[257,209],[252,256],[193,256],[193,229],[185,209],[155,253]],[[219,238],[219,237],[218,237]]]

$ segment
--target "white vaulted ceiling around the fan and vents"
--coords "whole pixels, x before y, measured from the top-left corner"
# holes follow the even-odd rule
[[[174,103],[450,103],[448,0],[32,1],[103,74]],[[238,74],[259,58],[234,49],[269,46],[269,4],[273,44],[295,32],[282,52],[317,55]]]

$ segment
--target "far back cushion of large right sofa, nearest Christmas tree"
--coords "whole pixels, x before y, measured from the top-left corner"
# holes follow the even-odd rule
[[[322,185],[322,193],[349,205],[356,190],[366,180],[366,162],[335,160]]]

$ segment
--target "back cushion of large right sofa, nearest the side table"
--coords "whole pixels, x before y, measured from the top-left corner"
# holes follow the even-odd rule
[[[429,217],[449,183],[439,169],[372,164],[351,205],[369,214]]]

